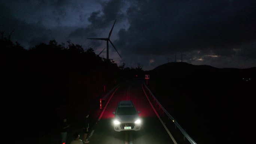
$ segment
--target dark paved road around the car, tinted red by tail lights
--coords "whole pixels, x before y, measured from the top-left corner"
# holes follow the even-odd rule
[[[159,121],[146,96],[141,84],[143,80],[133,80],[122,84],[112,96],[101,119],[93,127],[89,138],[90,144],[173,144],[164,126]],[[131,100],[142,118],[140,131],[116,132],[112,119],[118,101]]]

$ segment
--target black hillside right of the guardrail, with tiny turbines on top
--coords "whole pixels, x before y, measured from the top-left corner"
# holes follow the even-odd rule
[[[153,94],[197,143],[252,143],[256,67],[170,62],[146,73]]]

